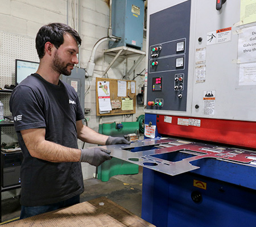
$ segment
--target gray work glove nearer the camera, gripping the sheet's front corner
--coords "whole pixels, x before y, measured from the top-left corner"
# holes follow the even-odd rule
[[[105,150],[100,146],[98,148],[81,149],[80,162],[88,162],[93,166],[100,166],[101,163],[110,159],[109,150]]]

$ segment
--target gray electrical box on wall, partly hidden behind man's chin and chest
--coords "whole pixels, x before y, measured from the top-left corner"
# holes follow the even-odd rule
[[[82,111],[84,111],[85,70],[74,68],[71,71],[71,75],[62,75],[61,80],[68,83],[76,90]]]

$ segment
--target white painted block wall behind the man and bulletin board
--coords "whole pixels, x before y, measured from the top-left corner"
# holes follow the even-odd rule
[[[75,6],[73,5],[75,2]],[[39,28],[44,24],[61,22],[77,30],[77,0],[0,0],[0,31],[13,33],[20,36],[27,36],[35,38]],[[75,13],[72,12],[75,9]],[[67,20],[68,15],[68,20]],[[73,18],[74,17],[74,18]],[[93,45],[101,37],[108,35],[109,27],[109,1],[108,0],[81,0],[81,38],[82,45],[80,48],[80,66],[85,68],[89,60]],[[145,51],[146,40],[143,51]],[[11,45],[11,43],[9,44]],[[1,48],[1,47],[0,47]],[[97,49],[96,53],[96,67],[93,77],[85,80],[85,90],[88,89],[90,83],[90,90],[85,96],[85,108],[90,108],[90,112],[86,117],[89,118],[88,126],[98,131],[98,124],[100,124],[100,117],[96,116],[96,77],[102,77],[103,71],[106,69],[112,57],[103,56],[103,50],[108,49],[108,42],[103,43]],[[24,49],[26,51],[26,49]],[[6,53],[8,54],[8,53]],[[130,59],[127,62],[127,68],[133,65],[134,60]],[[145,59],[135,69],[135,74],[140,73],[145,68]],[[113,68],[109,70],[108,77],[121,79],[124,73],[124,62],[118,59]],[[144,73],[144,72],[143,72]],[[5,75],[0,75],[0,78]],[[129,79],[133,79],[133,74]],[[138,76],[137,94],[141,91],[139,87],[143,86],[143,77]],[[127,118],[126,116],[104,116],[102,123],[109,123],[113,121],[136,121],[137,117],[143,112],[143,106],[137,106],[136,113]],[[82,142],[79,141],[81,148]],[[89,145],[86,144],[85,147]],[[91,178],[95,171],[95,167],[87,163],[82,165],[84,179]]]

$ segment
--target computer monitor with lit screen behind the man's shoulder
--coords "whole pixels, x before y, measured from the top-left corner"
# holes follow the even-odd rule
[[[15,60],[15,85],[38,70],[39,62]]]

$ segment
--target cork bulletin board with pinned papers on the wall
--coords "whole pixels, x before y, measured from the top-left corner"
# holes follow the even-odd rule
[[[109,108],[111,108],[112,110],[109,110]],[[108,109],[108,111],[105,111],[106,109]],[[98,77],[96,78],[97,116],[122,115],[135,112],[135,81]]]

